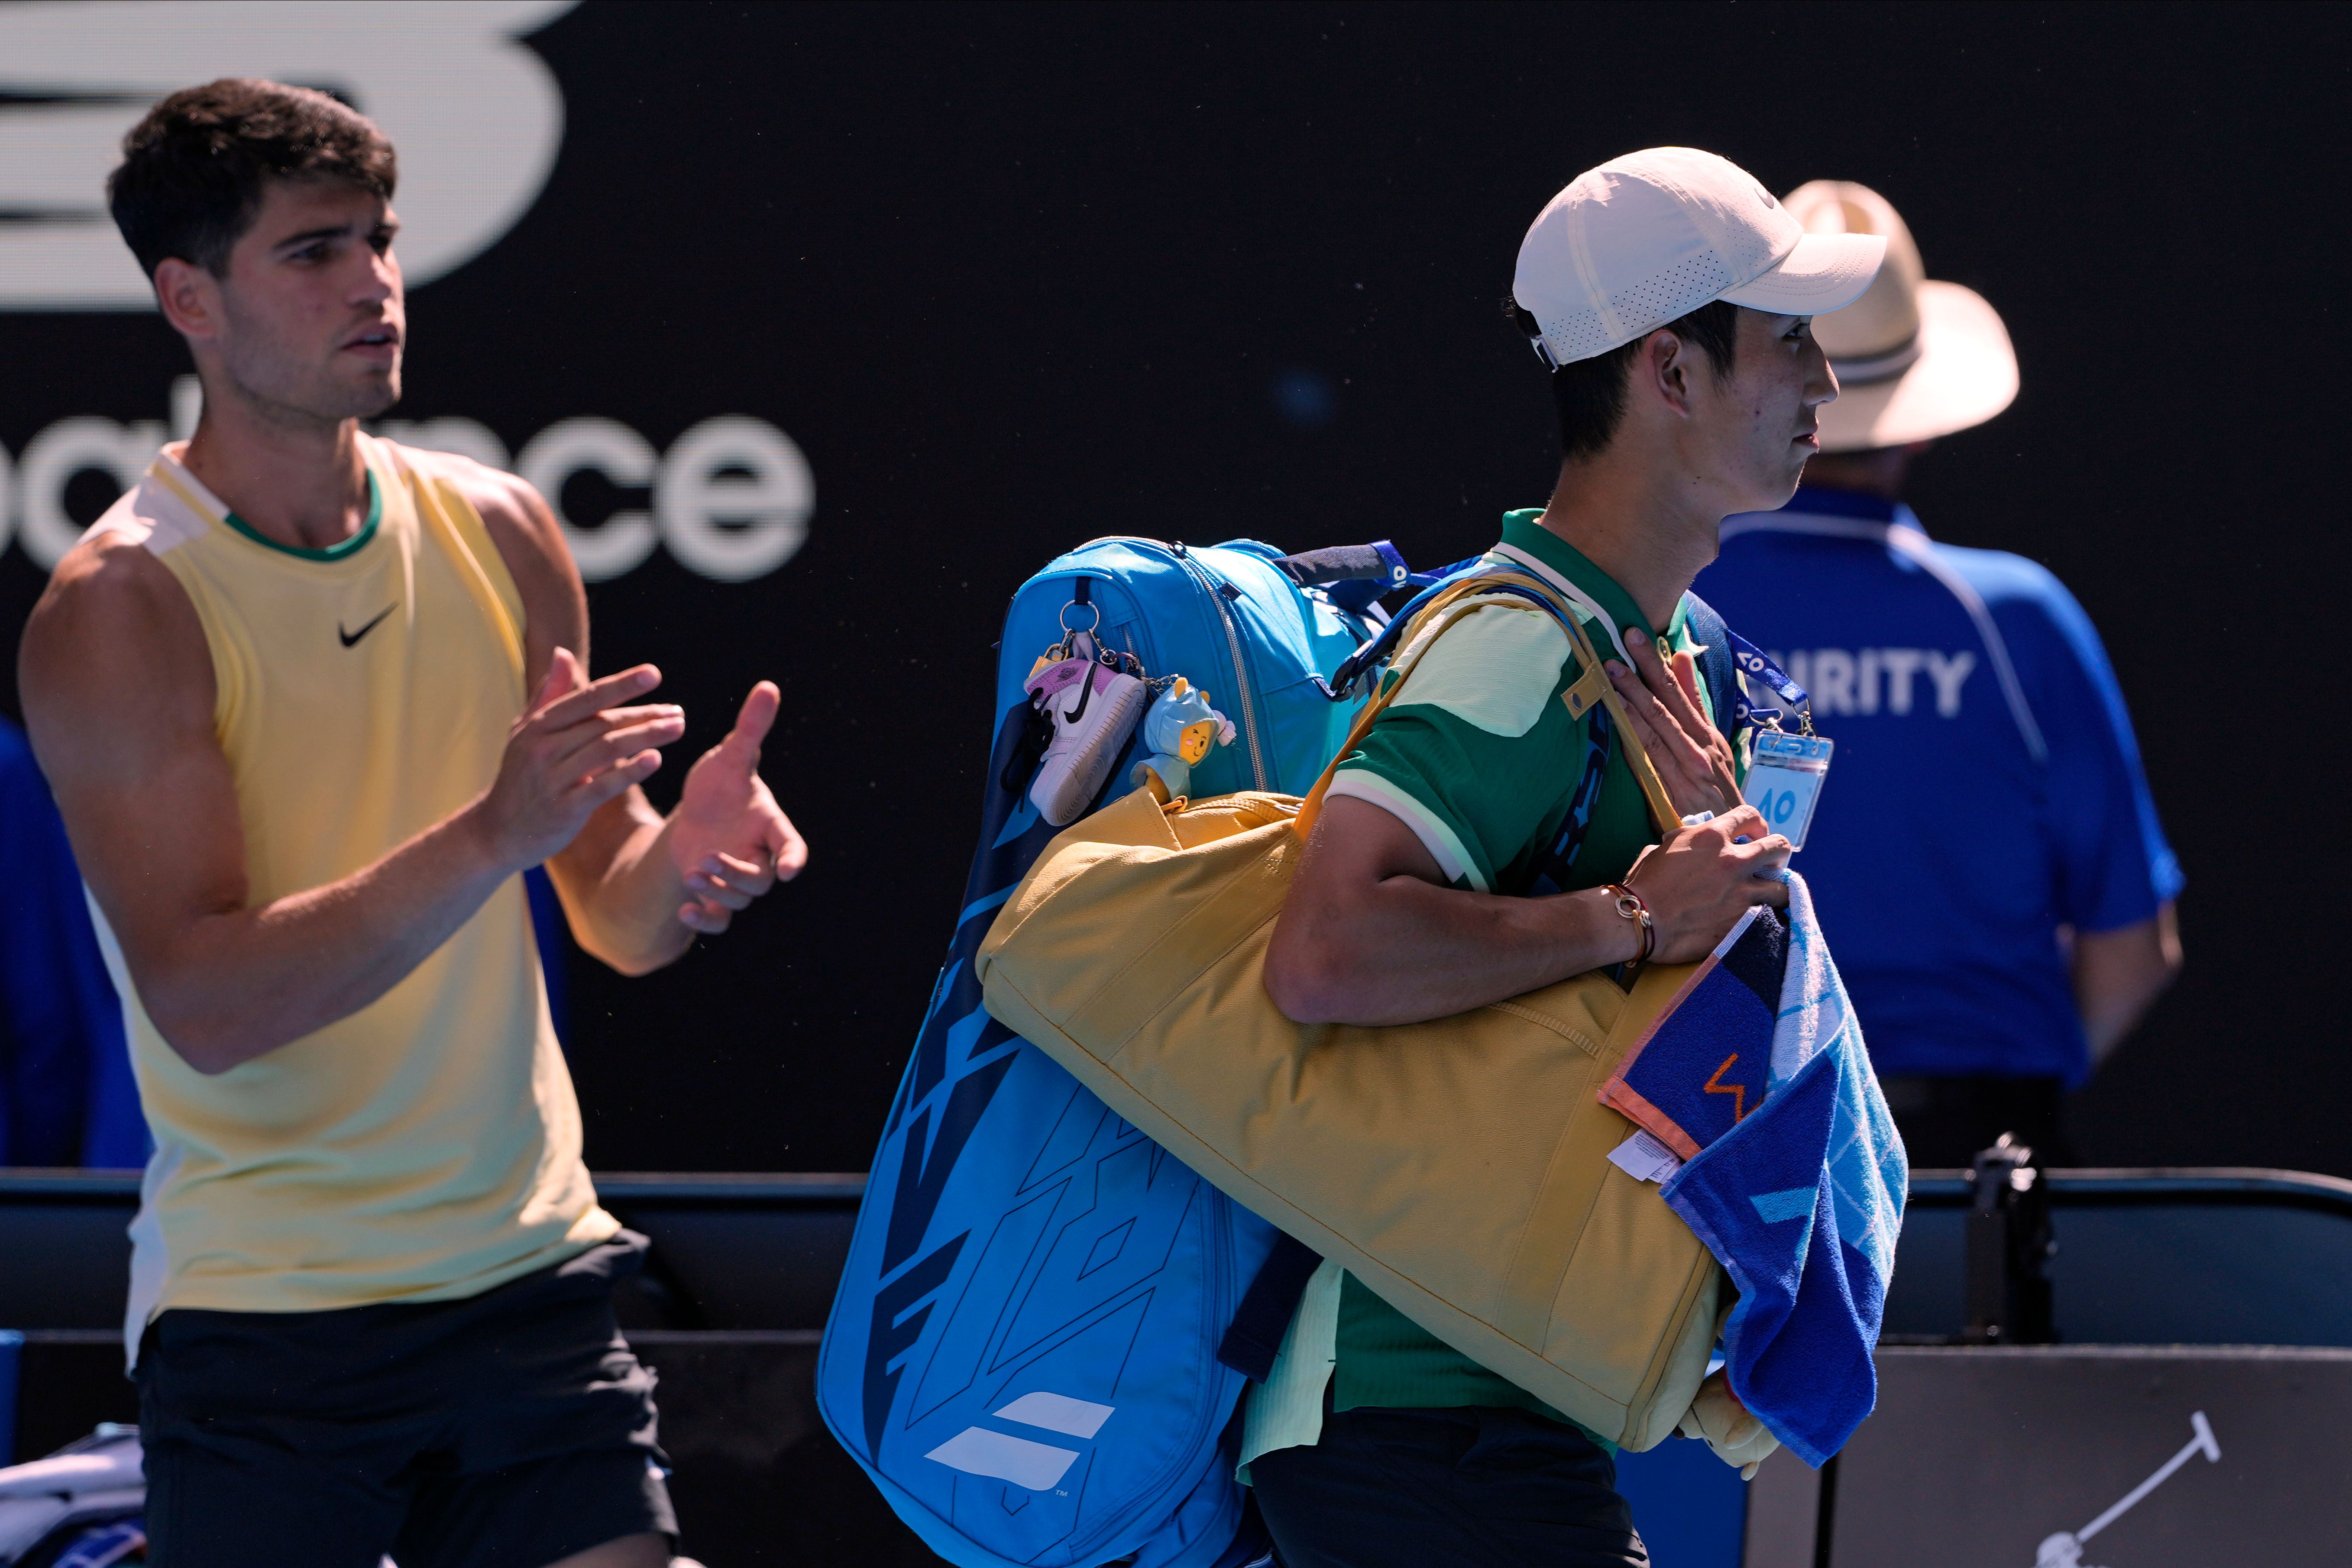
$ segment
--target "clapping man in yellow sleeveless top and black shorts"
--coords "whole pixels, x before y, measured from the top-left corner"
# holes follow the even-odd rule
[[[59,564],[19,679],[155,1133],[127,1340],[158,1563],[640,1568],[675,1521],[614,1326],[522,872],[623,973],[807,851],[776,686],[659,816],[652,665],[588,679],[546,501],[360,433],[400,397],[395,160],[223,80],[125,139],[115,223],[205,416]]]

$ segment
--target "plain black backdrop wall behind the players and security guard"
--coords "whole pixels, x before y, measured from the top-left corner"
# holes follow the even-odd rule
[[[2084,1152],[2352,1173],[2347,45],[2340,7],[560,16],[529,40],[555,174],[414,292],[400,414],[666,447],[741,411],[816,475],[781,571],[656,552],[593,588],[597,665],[654,658],[689,708],[656,802],[783,684],[767,776],[814,860],[661,976],[572,954],[590,1161],[863,1168],[955,914],[1011,588],[1110,531],[1484,545],[1552,470],[1496,317],[1522,228],[1611,153],[1693,143],[1778,190],[1877,186],[2016,339],[2016,407],[1912,501],[2084,599],[2190,872],[2187,978],[2082,1095]],[[153,315],[16,313],[0,367],[21,454],[68,414],[155,418],[186,360]],[[40,581],[0,557],[0,632]]]

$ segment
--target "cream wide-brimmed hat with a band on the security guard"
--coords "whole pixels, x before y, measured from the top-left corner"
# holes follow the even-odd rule
[[[1844,310],[1813,317],[1837,371],[1823,451],[1870,451],[1980,425],[2018,395],[2018,355],[1985,296],[1936,282],[1903,216],[1870,186],[1816,179],[1783,202],[1806,235],[1877,235],[1886,266]]]

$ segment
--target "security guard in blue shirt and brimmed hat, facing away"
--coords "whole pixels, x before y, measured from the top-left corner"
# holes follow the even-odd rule
[[[1926,280],[1875,190],[1813,181],[1788,209],[1884,235],[1886,266],[1813,322],[1842,395],[1804,489],[1726,520],[1698,592],[1837,741],[1802,865],[1912,1164],[2002,1133],[2065,1161],[2060,1093],[2180,971],[2180,865],[2074,597],[2018,555],[1929,541],[1900,501],[1915,456],[2016,397],[2002,317]]]

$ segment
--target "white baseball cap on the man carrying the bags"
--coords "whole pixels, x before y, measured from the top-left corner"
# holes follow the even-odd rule
[[[1851,306],[1884,235],[1806,233],[1729,158],[1649,148],[1578,174],[1526,230],[1510,292],[1550,364],[1632,343],[1708,301],[1773,315]]]

